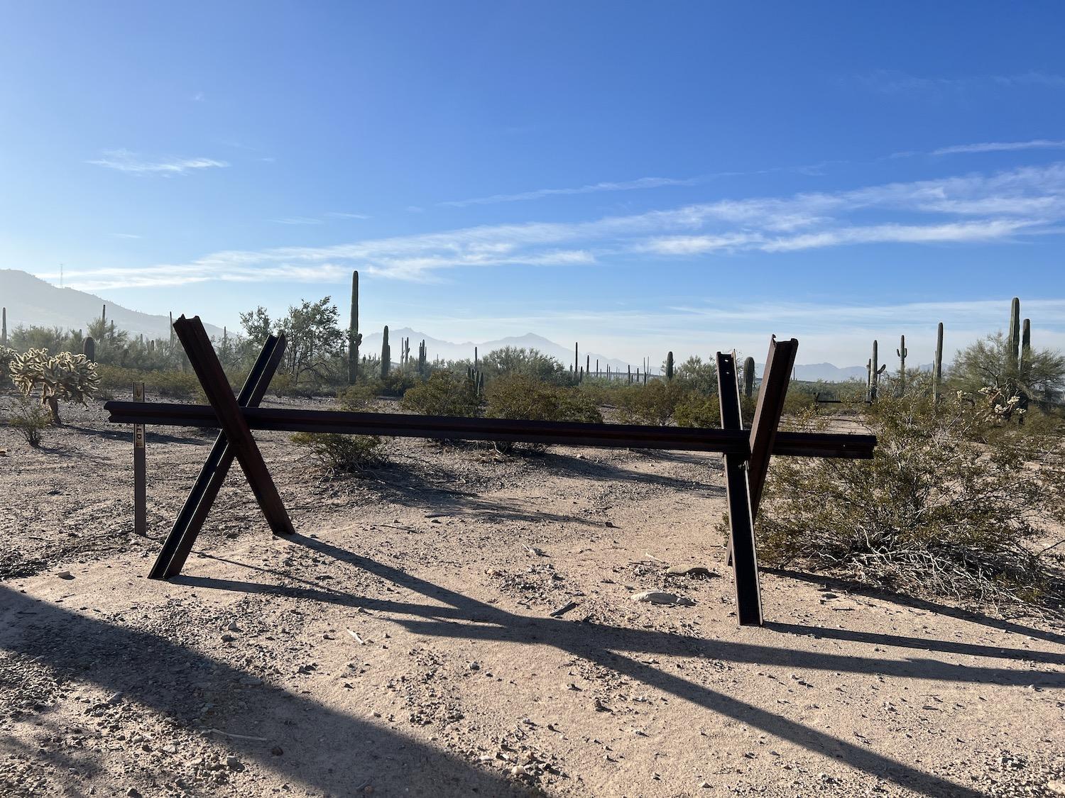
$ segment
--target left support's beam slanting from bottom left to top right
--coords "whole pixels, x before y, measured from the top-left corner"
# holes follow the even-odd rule
[[[242,408],[258,406],[266,394],[266,388],[277,371],[284,354],[284,336],[271,335],[263,344],[262,351],[256,359],[248,378],[236,397],[236,403]],[[222,484],[233,464],[234,452],[226,440],[225,433],[215,438],[211,452],[203,462],[196,482],[185,499],[181,512],[174,521],[170,534],[163,543],[163,548],[155,559],[155,564],[149,572],[151,579],[168,579],[181,572],[185,560],[203,528],[203,522],[218,497]]]

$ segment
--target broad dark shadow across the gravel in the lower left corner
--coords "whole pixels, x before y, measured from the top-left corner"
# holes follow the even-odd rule
[[[190,713],[175,703],[173,695],[192,696],[196,676],[206,669],[214,678],[234,683],[251,674],[191,650],[158,634],[95,620],[38,601],[0,585],[0,650],[23,653],[70,678],[93,682],[111,693],[151,708],[181,726],[191,726]],[[177,681],[170,697],[159,689],[164,668]],[[393,779],[420,774],[419,783],[428,785],[423,795],[527,796],[528,791],[498,775],[476,768],[441,749],[421,745],[380,725],[371,725],[324,706],[311,698],[280,692],[277,703],[300,726],[329,730],[331,743],[318,743],[315,754],[333,755],[343,767],[307,767],[301,774],[312,787],[326,794],[354,795],[356,788],[387,771]],[[275,708],[276,709],[276,708]],[[191,713],[195,714],[195,710]],[[2,745],[9,745],[3,741]],[[246,761],[276,770],[282,781],[294,774],[285,767],[292,758],[272,757],[269,744],[232,738],[227,745]],[[375,760],[376,751],[388,757]],[[42,759],[39,753],[28,753]],[[56,768],[60,774],[64,769]],[[56,776],[63,779],[62,776]],[[402,781],[399,783],[403,783]],[[70,795],[80,795],[81,783],[66,784]],[[412,795],[415,793],[411,793]]]

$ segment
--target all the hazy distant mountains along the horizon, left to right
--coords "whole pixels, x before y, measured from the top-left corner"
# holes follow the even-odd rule
[[[120,304],[109,302],[94,294],[75,290],[73,288],[59,288],[51,283],[45,282],[26,271],[17,269],[0,269],[0,305],[7,309],[7,331],[9,333],[23,325],[30,327],[37,325],[42,327],[62,327],[70,330],[83,330],[88,326],[89,320],[100,317],[103,305],[108,305],[108,319],[115,325],[128,330],[133,335],[144,334],[152,338],[166,338],[169,336],[170,320],[166,316],[154,316],[148,313],[140,313],[122,307]],[[204,322],[208,334],[220,337],[222,328]],[[542,335],[526,333],[525,335],[512,335],[495,340],[472,342],[455,344],[450,340],[441,340],[424,332],[419,332],[409,327],[389,330],[389,343],[392,346],[393,361],[399,360],[399,339],[409,337],[411,353],[416,356],[417,345],[424,339],[429,350],[429,360],[437,358],[445,361],[473,360],[476,348],[479,356],[485,356],[489,352],[504,347],[518,347],[520,349],[537,349],[544,354],[556,358],[559,363],[569,367],[573,365],[573,349],[561,344],[556,344]],[[381,333],[365,335],[362,342],[364,354],[379,353],[381,351]],[[599,361],[599,368],[606,370],[609,365],[611,370],[624,371],[636,365],[618,358],[610,358],[600,352],[580,352],[580,365],[585,365],[591,360],[591,368],[595,369],[595,362]],[[651,373],[658,373],[660,363],[651,366]],[[763,364],[756,366],[760,375]],[[921,366],[921,369],[931,366]],[[796,366],[796,378],[815,382],[824,380],[826,382],[842,382],[845,380],[866,379],[865,366],[834,366],[831,363],[810,363]]]

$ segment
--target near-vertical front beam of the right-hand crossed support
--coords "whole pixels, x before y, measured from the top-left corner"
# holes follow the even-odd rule
[[[718,352],[717,358],[721,426],[742,433],[743,416],[740,411],[736,356]],[[728,549],[733,561],[733,578],[736,581],[736,614],[739,616],[739,624],[744,627],[760,627],[761,589],[758,585],[758,556],[754,546],[754,517],[751,513],[747,465],[747,455],[725,454]]]

